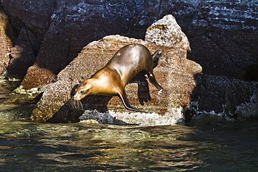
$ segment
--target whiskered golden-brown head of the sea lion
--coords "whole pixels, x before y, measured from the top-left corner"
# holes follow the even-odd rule
[[[75,95],[73,96],[73,100],[82,100],[84,97],[91,93],[91,83],[90,81],[83,81],[79,86],[75,89]]]

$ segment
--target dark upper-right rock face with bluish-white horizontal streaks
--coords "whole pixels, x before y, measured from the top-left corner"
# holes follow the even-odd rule
[[[258,64],[257,10],[256,0],[203,1],[187,33],[188,58],[206,74],[257,81],[257,70],[250,70]]]

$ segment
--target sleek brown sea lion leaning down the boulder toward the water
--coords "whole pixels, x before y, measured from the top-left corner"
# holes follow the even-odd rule
[[[158,65],[161,54],[157,50],[153,56],[144,45],[131,44],[119,49],[104,68],[98,70],[90,79],[82,81],[75,89],[73,100],[82,100],[87,95],[119,96],[124,107],[131,111],[140,111],[132,106],[126,96],[125,87],[139,72],[145,71],[149,81],[158,90],[162,87],[153,75],[153,68]]]

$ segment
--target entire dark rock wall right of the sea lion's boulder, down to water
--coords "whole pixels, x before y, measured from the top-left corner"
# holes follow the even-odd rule
[[[190,109],[185,118],[204,124],[219,116],[227,120],[257,117],[257,1],[203,1],[188,30],[192,52],[201,64]],[[241,80],[239,80],[241,79]],[[204,120],[201,120],[204,119]],[[205,122],[204,122],[205,121]]]

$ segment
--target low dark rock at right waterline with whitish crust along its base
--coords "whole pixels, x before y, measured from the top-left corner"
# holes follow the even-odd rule
[[[212,115],[239,121],[258,116],[257,82],[205,74],[195,75],[195,80],[197,86],[192,92],[190,108],[184,109],[188,116],[185,118],[193,116],[200,120]]]

